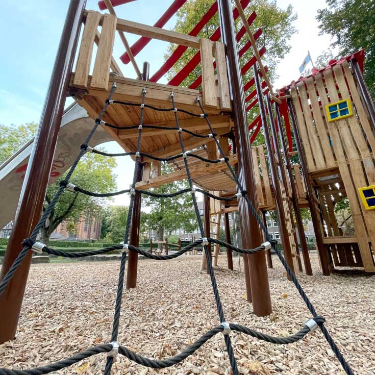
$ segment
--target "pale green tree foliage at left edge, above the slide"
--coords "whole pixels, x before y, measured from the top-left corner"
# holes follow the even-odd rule
[[[18,126],[0,124],[0,164],[3,164],[34,137],[37,126],[35,122],[27,122]]]

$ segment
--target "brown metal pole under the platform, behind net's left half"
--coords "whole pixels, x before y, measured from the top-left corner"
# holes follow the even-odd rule
[[[142,181],[142,175],[143,175],[143,164],[139,163],[138,165],[139,167],[137,170],[137,182]],[[134,195],[132,226],[130,228],[130,241],[129,241],[129,243],[133,246],[139,245],[139,226],[141,222],[141,206],[142,206],[142,194],[136,193]],[[151,253],[152,253],[152,250],[151,250]],[[137,286],[138,253],[129,252],[128,256],[129,258],[128,258],[128,270],[127,270],[127,289],[131,289]]]

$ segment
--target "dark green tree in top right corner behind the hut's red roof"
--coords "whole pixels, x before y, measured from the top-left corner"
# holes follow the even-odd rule
[[[319,9],[316,19],[322,33],[331,34],[332,47],[339,48],[340,56],[366,50],[364,76],[375,98],[375,7],[373,0],[327,0],[327,8]]]

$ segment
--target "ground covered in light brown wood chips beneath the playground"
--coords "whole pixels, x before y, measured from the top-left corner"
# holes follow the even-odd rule
[[[199,257],[140,261],[138,286],[124,290],[118,341],[155,359],[181,352],[216,326],[218,315],[210,279],[199,273]],[[237,264],[237,260],[235,262]],[[355,374],[375,374],[375,276],[324,277],[312,254],[314,276],[299,280]],[[227,321],[274,336],[296,332],[310,313],[280,262],[269,270],[273,313],[259,318],[245,301],[242,271],[215,271]],[[0,367],[27,369],[109,342],[119,262],[32,265],[17,337],[0,345]],[[319,330],[281,346],[232,333],[241,374],[344,374]],[[58,373],[102,374],[106,355],[97,355]],[[118,356],[112,374],[228,375],[223,336],[216,335],[194,355],[171,368],[153,370]]]

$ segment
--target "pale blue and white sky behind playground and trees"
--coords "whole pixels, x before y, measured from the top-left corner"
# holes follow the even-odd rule
[[[18,125],[39,121],[68,4],[68,0],[2,0],[0,38],[3,52],[6,53],[0,59],[0,123]],[[171,0],[137,0],[116,7],[116,12],[120,18],[154,24],[170,4]],[[329,49],[331,38],[328,35],[318,35],[318,22],[315,19],[317,10],[326,6],[325,0],[277,0],[277,4],[283,9],[292,4],[298,16],[294,22],[298,33],[290,40],[291,51],[277,69],[280,77],[274,87],[279,88],[299,77],[298,67],[308,50],[314,60]],[[88,0],[86,8],[98,10],[97,0]],[[176,18],[173,17],[164,28],[172,28],[175,21]],[[127,34],[127,38],[132,44],[138,36]],[[138,65],[142,66],[143,61],[149,61],[152,75],[162,65],[167,46],[166,42],[152,40],[136,57]],[[113,56],[120,64],[124,76],[135,78],[132,65],[123,65],[118,60],[123,49],[117,36]],[[166,83],[166,80],[159,82]],[[68,98],[67,104],[70,103],[71,99]],[[121,152],[115,142],[107,143],[105,147],[109,152]],[[118,176],[118,189],[128,188],[134,163],[129,158],[117,158],[117,162],[115,173]],[[123,195],[112,202],[127,203],[128,196]]]

